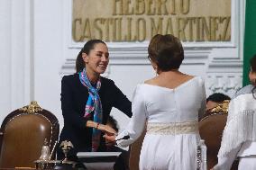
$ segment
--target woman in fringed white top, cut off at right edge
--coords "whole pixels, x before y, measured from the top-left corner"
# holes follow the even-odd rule
[[[251,85],[243,87],[229,103],[218,164],[214,170],[228,170],[239,157],[239,170],[256,169],[256,55],[251,58]]]

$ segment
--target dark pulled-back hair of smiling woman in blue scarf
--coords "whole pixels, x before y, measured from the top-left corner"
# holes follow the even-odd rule
[[[105,44],[103,40],[88,40],[84,47],[80,50],[76,60],[76,73],[81,72],[84,69],[84,67],[86,67],[85,62],[82,58],[82,53],[86,53],[87,55],[89,55],[90,50],[94,49],[95,45],[98,43]]]

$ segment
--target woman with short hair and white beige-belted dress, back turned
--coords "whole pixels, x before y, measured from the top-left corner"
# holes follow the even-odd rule
[[[158,76],[137,85],[133,94],[133,117],[117,144],[127,147],[140,137],[147,122],[140,156],[141,170],[194,170],[200,139],[198,117],[206,109],[202,78],[178,71],[184,50],[173,35],[155,35],[148,48]]]

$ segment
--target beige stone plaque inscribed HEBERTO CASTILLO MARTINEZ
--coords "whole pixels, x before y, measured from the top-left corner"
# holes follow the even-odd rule
[[[73,0],[74,41],[230,41],[231,0]]]

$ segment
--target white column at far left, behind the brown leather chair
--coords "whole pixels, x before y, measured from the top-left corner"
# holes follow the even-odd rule
[[[31,99],[30,0],[0,1],[0,121]]]

